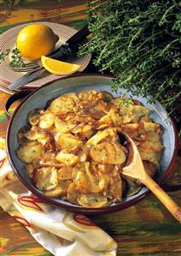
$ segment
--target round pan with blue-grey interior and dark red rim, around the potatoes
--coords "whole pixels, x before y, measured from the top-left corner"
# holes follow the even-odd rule
[[[135,205],[137,201],[143,199],[148,193],[148,188],[143,187],[137,194],[124,198],[120,203],[97,209],[73,205],[61,199],[47,198],[44,196],[43,192],[33,186],[29,176],[26,174],[25,164],[22,163],[15,154],[19,147],[17,140],[18,131],[26,125],[27,113],[30,110],[42,109],[50,99],[56,98],[67,92],[80,92],[90,89],[111,92],[110,82],[112,79],[113,78],[111,77],[103,75],[80,74],[77,76],[63,78],[61,80],[55,80],[41,88],[38,88],[35,92],[32,92],[32,94],[19,105],[18,109],[15,110],[14,116],[12,116],[11,121],[9,122],[9,129],[7,133],[7,146],[10,164],[15,170],[15,173],[19,176],[20,181],[23,182],[25,186],[32,191],[32,193],[37,194],[38,197],[44,199],[46,202],[57,205],[67,211],[97,214],[118,211],[131,205]],[[121,92],[123,91],[120,89],[117,93],[111,93],[113,93],[114,97],[118,97]],[[126,93],[126,96],[130,97],[131,93]],[[172,170],[172,164],[177,152],[177,134],[172,121],[170,120],[170,122],[165,122],[167,115],[166,110],[163,109],[159,102],[156,101],[155,104],[148,104],[147,100],[143,97],[134,98],[149,108],[151,119],[154,122],[160,123],[163,129],[162,140],[165,150],[161,157],[161,169],[159,170],[158,176],[156,176],[156,181],[161,182],[168,175],[169,171]]]

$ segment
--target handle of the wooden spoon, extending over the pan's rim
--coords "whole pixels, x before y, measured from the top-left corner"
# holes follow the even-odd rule
[[[152,193],[155,193],[155,196],[161,201],[163,205],[166,206],[167,210],[172,213],[172,216],[178,219],[178,222],[181,223],[181,208],[171,199],[171,197],[161,188],[159,185],[146,175],[141,182],[149,188]]]

